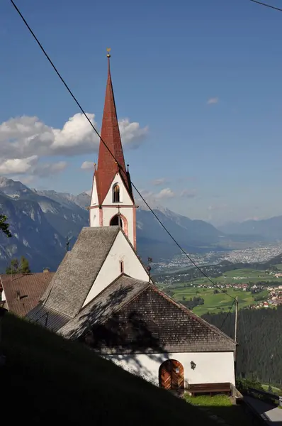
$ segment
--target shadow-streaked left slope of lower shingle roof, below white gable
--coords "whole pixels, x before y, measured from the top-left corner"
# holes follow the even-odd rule
[[[149,285],[150,283],[147,281],[135,280],[124,274],[120,275],[94,300],[91,300],[73,320],[65,324],[60,329],[60,334],[77,339],[94,324],[103,324]]]

